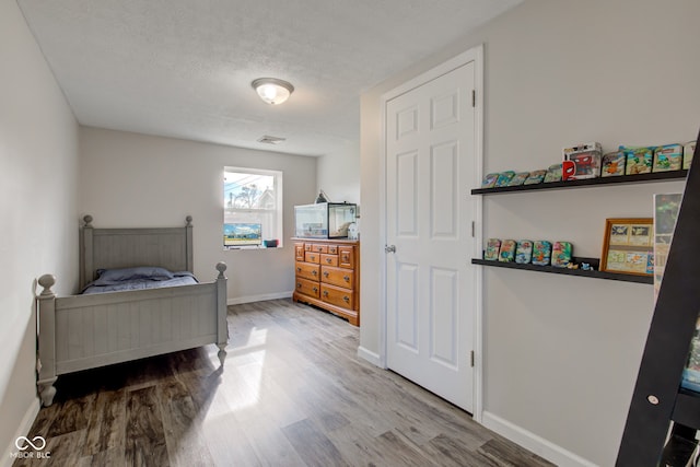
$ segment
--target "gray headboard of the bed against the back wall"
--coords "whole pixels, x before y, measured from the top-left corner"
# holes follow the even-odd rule
[[[160,229],[95,229],[85,215],[80,230],[80,287],[96,278],[97,269],[160,266],[194,272],[192,218],[185,226]]]

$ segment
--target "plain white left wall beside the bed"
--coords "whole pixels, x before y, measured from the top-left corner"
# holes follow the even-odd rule
[[[0,465],[38,411],[34,281],[78,283],[78,124],[16,3],[0,1]]]

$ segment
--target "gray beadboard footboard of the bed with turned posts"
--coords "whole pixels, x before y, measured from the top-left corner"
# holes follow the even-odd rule
[[[215,343],[223,367],[229,341],[226,265],[213,282],[57,297],[42,276],[37,296],[37,387],[44,406],[59,375]]]

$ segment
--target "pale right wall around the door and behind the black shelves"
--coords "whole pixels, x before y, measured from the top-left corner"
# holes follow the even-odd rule
[[[362,96],[362,349],[380,354],[381,95],[485,44],[485,173],[542,168],[575,142],[685,142],[700,127],[700,2],[527,0]],[[651,217],[681,182],[486,197],[485,237],[569,240]],[[562,464],[615,463],[652,287],[485,268],[485,423]],[[558,457],[557,457],[558,456]],[[563,460],[562,460],[563,459]]]

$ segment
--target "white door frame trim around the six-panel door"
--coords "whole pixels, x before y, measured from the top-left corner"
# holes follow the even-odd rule
[[[429,81],[434,80],[443,74],[446,74],[466,63],[474,62],[474,87],[476,91],[475,102],[475,161],[474,161],[474,186],[478,186],[483,177],[483,45],[480,44],[469,50],[459,54],[452,59],[433,67],[432,69],[408,80],[407,82],[394,87],[390,91],[382,94],[382,129],[381,129],[381,149],[380,149],[380,365],[384,369],[387,367],[387,296],[386,296],[386,268],[387,268],[387,254],[384,252],[386,245],[387,230],[386,230],[386,106],[389,101],[405,94]],[[474,235],[475,235],[475,250],[471,252],[472,257],[481,256],[481,245],[483,244],[482,234],[482,199],[481,197],[474,197],[472,212],[474,212]],[[464,258],[465,261],[470,261],[471,258]],[[482,268],[476,268],[475,271],[476,294],[474,296],[474,420],[481,422],[481,413],[483,411],[483,342],[482,342]]]

